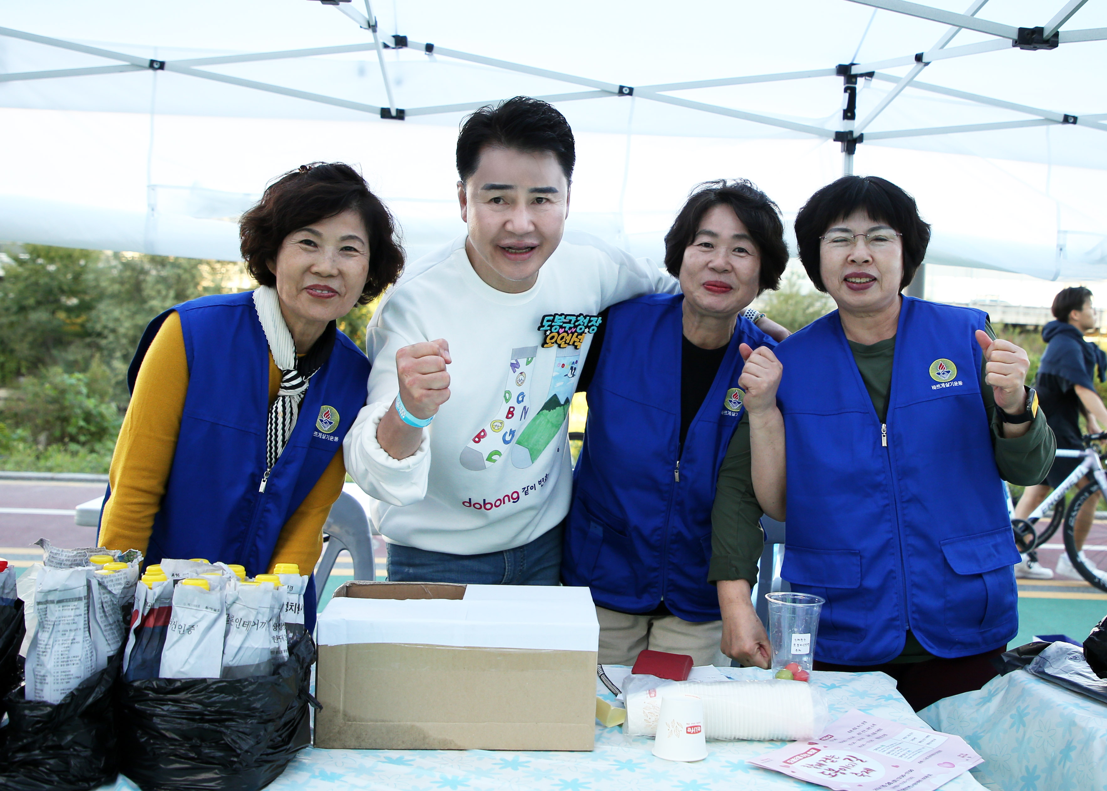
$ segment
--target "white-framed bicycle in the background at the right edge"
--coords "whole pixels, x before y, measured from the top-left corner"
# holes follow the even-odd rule
[[[1088,568],[1085,563],[1084,556],[1080,555],[1076,548],[1075,529],[1076,517],[1080,511],[1080,507],[1087,502],[1088,498],[1098,491],[1107,492],[1107,470],[1104,469],[1100,451],[1093,445],[1093,443],[1105,439],[1107,439],[1107,431],[1085,434],[1082,437],[1084,444],[1083,450],[1058,449],[1056,451],[1057,458],[1083,458],[1083,461],[1062,481],[1061,486],[1049,492],[1049,496],[1042,501],[1042,504],[1031,511],[1026,519],[1011,520],[1011,529],[1015,533],[1015,545],[1018,548],[1018,551],[1035,560],[1037,559],[1037,549],[1053,538],[1058,528],[1062,528],[1065,552],[1068,554],[1073,568],[1090,585],[1098,587],[1100,591],[1107,591],[1107,575],[1096,573],[1094,569]],[[1064,508],[1065,496],[1068,493],[1068,490],[1074,488],[1088,473],[1092,473],[1092,482],[1080,487],[1068,503],[1068,507]],[[1054,508],[1055,506],[1057,507]],[[1053,516],[1045,530],[1038,533],[1035,530],[1035,525],[1051,508],[1053,509]],[[1107,566],[1107,547],[1085,543],[1083,549],[1085,556],[1089,551],[1094,552],[1096,553],[1095,556],[1101,559],[1104,565]]]

